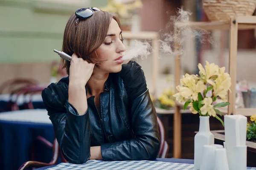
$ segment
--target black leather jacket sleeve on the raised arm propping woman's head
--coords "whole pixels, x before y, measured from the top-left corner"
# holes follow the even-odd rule
[[[89,113],[87,110],[79,116],[61,89],[61,85],[52,83],[42,91],[42,98],[64,158],[82,164],[90,158]]]

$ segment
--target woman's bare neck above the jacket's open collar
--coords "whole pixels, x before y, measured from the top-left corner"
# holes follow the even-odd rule
[[[109,73],[103,73],[94,69],[92,76],[86,84],[87,95],[96,96],[102,93],[105,89],[105,82],[108,79],[108,75]]]

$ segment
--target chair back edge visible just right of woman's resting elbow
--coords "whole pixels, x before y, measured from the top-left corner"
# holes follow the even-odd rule
[[[160,150],[158,153],[159,158],[167,158],[169,152],[169,145],[165,140],[165,130],[163,126],[163,122],[157,117],[159,134],[160,134]]]

